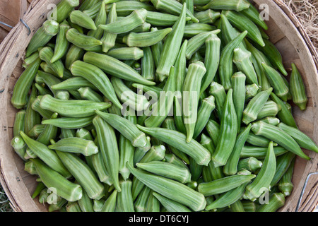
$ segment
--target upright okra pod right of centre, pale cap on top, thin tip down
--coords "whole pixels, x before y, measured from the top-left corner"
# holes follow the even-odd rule
[[[237,115],[237,132],[240,131],[242,124],[243,111],[245,107],[245,81],[246,76],[242,72],[236,72],[231,78],[232,89],[233,89],[233,103]]]

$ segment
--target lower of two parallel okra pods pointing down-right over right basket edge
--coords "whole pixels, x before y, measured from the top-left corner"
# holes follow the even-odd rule
[[[291,151],[292,153],[299,155],[305,160],[310,160],[310,157],[302,152],[302,149],[293,139],[293,137],[289,136],[288,133],[277,126],[266,124],[264,121],[257,121],[252,124],[252,131],[255,133],[255,135],[264,136],[269,140],[278,143],[278,145]]]

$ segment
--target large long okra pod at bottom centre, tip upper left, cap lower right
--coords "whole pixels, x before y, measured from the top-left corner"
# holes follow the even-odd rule
[[[140,169],[135,169],[129,164],[127,166],[129,167],[131,174],[134,174],[137,179],[158,194],[182,203],[184,206],[188,206],[194,211],[203,210],[206,207],[206,199],[204,196],[199,194],[199,192],[190,189],[188,186],[175,182],[172,179],[145,173]]]

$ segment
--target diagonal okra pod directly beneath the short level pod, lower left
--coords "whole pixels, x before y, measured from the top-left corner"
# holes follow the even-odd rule
[[[100,199],[103,196],[104,186],[86,162],[73,153],[64,153],[57,150],[57,155],[90,198]]]

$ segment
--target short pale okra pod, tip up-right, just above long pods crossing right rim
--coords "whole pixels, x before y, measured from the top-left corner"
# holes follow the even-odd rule
[[[268,90],[261,91],[257,93],[252,100],[249,100],[247,107],[245,107],[243,111],[242,121],[245,124],[249,124],[250,122],[257,119],[259,112],[264,107],[267,100],[269,100],[269,95],[271,94],[272,90],[273,88],[269,88]]]

